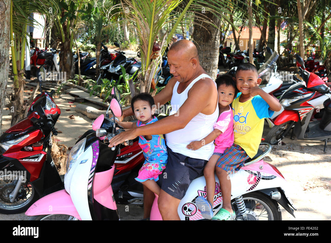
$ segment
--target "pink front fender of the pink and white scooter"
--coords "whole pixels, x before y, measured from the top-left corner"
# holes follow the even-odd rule
[[[66,214],[81,220],[68,192],[63,189],[40,198],[25,212],[27,216]]]

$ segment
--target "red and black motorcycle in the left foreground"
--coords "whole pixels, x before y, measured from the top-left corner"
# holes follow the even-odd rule
[[[55,91],[42,91],[45,69],[38,70],[40,94],[27,117],[0,136],[2,214],[22,213],[39,197],[64,188],[51,157],[52,136],[57,135],[54,125],[61,111],[52,98]]]

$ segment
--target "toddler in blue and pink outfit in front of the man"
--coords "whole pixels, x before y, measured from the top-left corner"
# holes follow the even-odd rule
[[[141,93],[133,97],[131,108],[138,122],[118,122],[118,125],[123,128],[145,126],[158,120],[153,116],[155,113],[154,99],[148,93]],[[145,162],[135,180],[159,195],[161,188],[156,182],[159,180],[159,175],[162,174],[162,171],[166,169],[168,159],[163,135],[139,136],[139,145],[143,150]]]

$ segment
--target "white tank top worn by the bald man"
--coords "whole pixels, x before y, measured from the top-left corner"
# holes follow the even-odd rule
[[[188,91],[198,80],[203,77],[211,79],[209,75],[201,74],[199,77],[194,79],[180,94],[177,93],[179,82],[176,82],[172,91],[172,97],[170,102],[171,112],[169,113],[169,115],[173,115],[177,112],[179,107],[186,101]],[[214,84],[216,87],[215,82]],[[193,117],[192,120],[183,129],[167,133],[166,145],[175,153],[180,153],[191,158],[209,160],[209,158],[213,155],[214,152],[213,142],[202,146],[198,150],[187,149],[186,145],[188,145],[192,141],[200,141],[208,134],[210,134],[214,130],[213,125],[216,123],[217,118],[218,102],[213,114],[205,115],[200,112],[198,115]]]

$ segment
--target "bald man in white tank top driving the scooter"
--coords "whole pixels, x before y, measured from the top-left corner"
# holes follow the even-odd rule
[[[200,66],[198,50],[191,41],[174,43],[168,51],[168,64],[173,77],[154,96],[154,101],[160,108],[160,104],[171,100],[169,116],[120,133],[110,141],[110,146],[139,135],[166,134],[168,163],[159,176],[158,205],[163,220],[179,220],[179,202],[192,180],[203,175],[214,150],[213,142],[194,151],[186,145],[202,140],[213,131],[218,118],[218,95],[216,83]],[[132,114],[131,109],[124,111],[124,116]],[[146,189],[144,187],[144,194]]]

